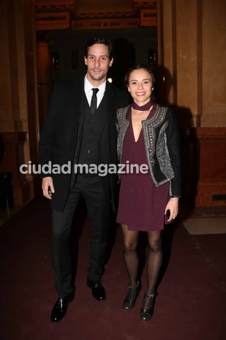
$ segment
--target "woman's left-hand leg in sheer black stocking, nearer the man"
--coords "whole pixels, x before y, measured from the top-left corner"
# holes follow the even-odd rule
[[[137,273],[138,273],[138,255],[137,255],[137,242],[138,231],[128,230],[127,225],[121,224],[123,231],[123,258],[126,265],[126,270],[130,279],[130,286],[137,287]]]

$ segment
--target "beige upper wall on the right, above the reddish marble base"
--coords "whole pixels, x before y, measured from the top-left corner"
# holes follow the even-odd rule
[[[159,62],[172,76],[167,102],[189,108],[193,126],[226,126],[226,1],[158,6]]]

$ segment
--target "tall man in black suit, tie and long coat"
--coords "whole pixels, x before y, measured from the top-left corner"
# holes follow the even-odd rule
[[[52,322],[65,316],[74,299],[69,238],[81,197],[86,200],[91,221],[87,285],[96,300],[106,298],[100,278],[108,244],[110,202],[114,210],[116,174],[99,176],[89,170],[94,164],[117,164],[115,114],[128,104],[128,97],[106,81],[113,63],[110,41],[89,40],[84,62],[84,78],[56,82],[39,142],[39,164],[71,164],[71,173],[41,174],[43,195],[52,200],[53,208],[51,253],[58,300],[51,313]],[[88,171],[83,168],[75,173],[80,164]]]

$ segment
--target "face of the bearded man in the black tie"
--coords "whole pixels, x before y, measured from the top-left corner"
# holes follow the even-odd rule
[[[108,69],[113,63],[113,58],[109,59],[108,46],[104,44],[90,46],[88,56],[84,58],[87,65],[87,79],[91,84],[101,85],[105,82]]]

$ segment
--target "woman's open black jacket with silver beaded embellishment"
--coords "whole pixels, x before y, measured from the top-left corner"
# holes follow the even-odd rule
[[[127,112],[130,105],[117,110],[117,154],[121,164],[123,144],[130,126]],[[159,187],[170,181],[170,197],[181,197],[180,137],[174,111],[171,107],[156,104],[151,118],[142,121],[145,149],[152,181]],[[120,174],[119,181],[120,181]]]

